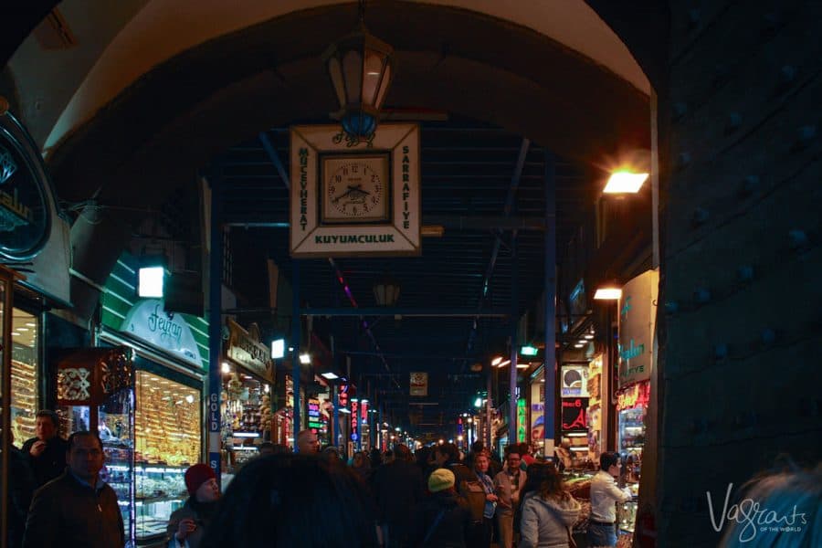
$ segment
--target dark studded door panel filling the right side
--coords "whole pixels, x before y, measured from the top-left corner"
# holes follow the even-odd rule
[[[657,529],[715,546],[706,491],[822,458],[822,3],[669,8]]]

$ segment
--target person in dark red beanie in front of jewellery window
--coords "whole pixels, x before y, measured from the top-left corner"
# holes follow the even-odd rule
[[[214,470],[202,463],[185,470],[185,489],[188,500],[168,521],[168,548],[198,548],[220,499]]]

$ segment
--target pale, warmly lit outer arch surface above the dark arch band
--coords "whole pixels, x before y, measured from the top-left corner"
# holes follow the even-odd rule
[[[61,9],[76,10],[74,4],[70,0],[63,2]],[[339,5],[332,0],[246,0],[241,9],[223,0],[150,0],[142,6],[141,2],[132,0],[124,4],[129,6],[121,5],[116,16],[112,14],[118,24],[125,20],[123,26],[111,37],[111,42],[102,47],[99,58],[72,94],[65,111],[48,134],[46,148],[90,120],[96,111],[143,74],[187,49],[290,12]],[[581,0],[440,0],[425,3],[414,0],[406,1],[406,4],[453,6],[532,29],[602,65],[642,93],[647,95],[649,92],[648,79],[627,47]],[[346,25],[347,19],[353,23],[353,5],[347,6],[349,9],[343,10],[339,19],[340,33],[353,26]],[[373,23],[371,11],[377,9],[382,6],[368,7],[369,24]],[[351,15],[346,17],[345,11]],[[128,16],[131,18],[126,20]],[[406,30],[424,32],[424,29],[412,27],[406,27]],[[111,29],[103,34],[111,35]],[[330,41],[333,36],[326,38]]]

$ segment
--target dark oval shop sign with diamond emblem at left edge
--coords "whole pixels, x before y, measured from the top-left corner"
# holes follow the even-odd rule
[[[24,132],[0,115],[0,256],[12,260],[37,255],[51,229],[46,171]]]

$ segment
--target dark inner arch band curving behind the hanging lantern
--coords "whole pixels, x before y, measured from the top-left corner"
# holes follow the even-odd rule
[[[333,109],[319,56],[353,25],[352,5],[292,12],[189,47],[142,75],[55,149],[60,195],[142,205],[261,129]],[[369,8],[397,51],[388,104],[452,111],[598,165],[648,146],[648,97],[524,26],[441,5]],[[340,21],[345,21],[344,25]]]

